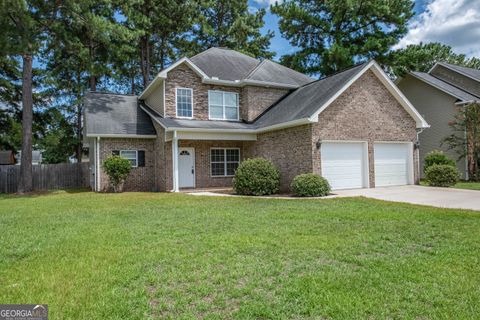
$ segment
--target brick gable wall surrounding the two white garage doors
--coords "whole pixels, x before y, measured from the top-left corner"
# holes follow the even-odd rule
[[[321,172],[318,140],[368,141],[370,186],[375,186],[373,143],[415,141],[416,123],[373,72],[368,71],[319,116],[313,128],[313,170]],[[414,175],[418,180],[417,153]]]

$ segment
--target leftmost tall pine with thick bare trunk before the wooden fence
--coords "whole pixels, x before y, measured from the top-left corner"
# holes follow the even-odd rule
[[[0,2],[0,52],[2,57],[22,60],[22,163],[20,193],[33,189],[32,122],[33,122],[33,59],[43,44],[48,30],[51,3],[40,0],[3,0]]]

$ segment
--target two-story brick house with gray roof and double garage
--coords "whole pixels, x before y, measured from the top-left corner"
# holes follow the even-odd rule
[[[417,130],[426,127],[374,61],[314,81],[222,48],[177,61],[138,97],[85,99],[98,191],[108,186],[101,163],[112,154],[134,167],[126,190],[230,187],[252,157],[279,168],[282,190],[306,172],[334,189],[413,184]]]

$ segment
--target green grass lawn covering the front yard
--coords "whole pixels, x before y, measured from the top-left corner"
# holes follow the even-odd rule
[[[364,198],[0,196],[0,303],[50,319],[472,319],[480,213]]]

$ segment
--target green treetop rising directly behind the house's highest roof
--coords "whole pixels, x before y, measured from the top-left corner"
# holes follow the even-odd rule
[[[272,58],[269,50],[273,31],[262,35],[265,9],[248,10],[247,0],[201,0],[192,30],[189,54],[210,47],[227,47],[257,58]]]

